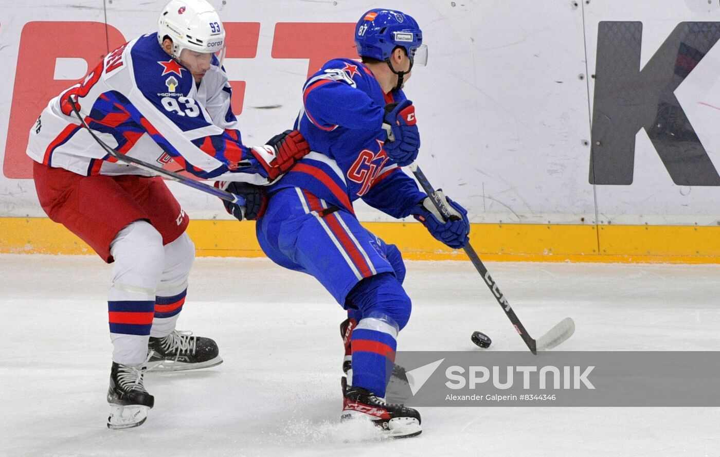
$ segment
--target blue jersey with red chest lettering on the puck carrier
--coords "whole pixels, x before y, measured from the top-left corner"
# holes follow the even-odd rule
[[[299,187],[349,212],[361,198],[392,217],[410,215],[426,194],[383,149],[385,104],[404,99],[402,91],[384,94],[362,63],[325,63],[305,83],[303,109],[295,122],[312,152],[270,191]]]

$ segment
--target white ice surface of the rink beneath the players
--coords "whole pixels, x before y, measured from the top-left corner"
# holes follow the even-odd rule
[[[469,262],[408,262],[400,350],[525,350]],[[563,350],[718,350],[720,266],[488,263],[536,338]],[[720,456],[720,408],[422,408],[423,434],[338,423],[341,308],[265,259],[198,258],[179,329],[225,363],[148,374],[145,425],[108,430],[110,268],[0,255],[0,456]]]

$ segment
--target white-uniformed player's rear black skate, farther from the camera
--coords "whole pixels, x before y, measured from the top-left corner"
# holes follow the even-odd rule
[[[173,330],[163,338],[150,337],[148,371],[194,370],[220,365],[217,344],[210,338],[193,336],[192,332]]]

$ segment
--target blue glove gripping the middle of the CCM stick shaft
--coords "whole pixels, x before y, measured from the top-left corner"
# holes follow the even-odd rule
[[[458,219],[445,221],[429,196],[415,205],[413,208],[413,217],[423,222],[428,232],[430,232],[436,240],[445,243],[453,249],[464,248],[470,240],[469,237],[467,237],[470,232],[467,210],[447,198],[445,194],[443,194],[443,189],[438,189],[437,194],[445,203],[451,216],[455,216]]]

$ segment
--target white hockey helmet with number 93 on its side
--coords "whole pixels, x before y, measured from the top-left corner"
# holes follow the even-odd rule
[[[158,19],[158,42],[173,40],[172,56],[180,58],[183,49],[214,53],[220,65],[225,55],[225,27],[215,8],[205,0],[171,0]]]

